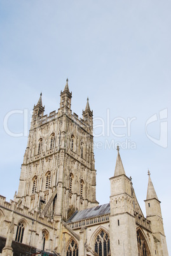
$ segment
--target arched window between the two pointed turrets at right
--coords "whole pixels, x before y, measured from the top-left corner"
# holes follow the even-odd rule
[[[142,232],[140,230],[137,231],[137,243],[139,256],[150,256],[149,248],[147,246],[146,239],[144,238]]]

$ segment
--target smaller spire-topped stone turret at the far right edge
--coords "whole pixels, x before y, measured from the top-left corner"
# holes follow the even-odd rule
[[[147,187],[147,197],[145,200],[146,204],[146,215],[147,220],[151,222],[151,231],[154,236],[158,239],[158,243],[156,243],[155,252],[160,252],[161,256],[167,256],[167,241],[165,238],[165,232],[163,228],[163,218],[161,215],[161,207],[160,201],[156,195],[156,191],[154,190],[153,182],[151,181],[150,172],[148,171],[149,180]]]

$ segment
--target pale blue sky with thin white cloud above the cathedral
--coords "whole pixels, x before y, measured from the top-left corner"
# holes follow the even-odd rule
[[[147,171],[170,219],[171,2],[0,1],[0,194],[18,190],[31,111],[42,92],[58,110],[69,79],[71,109],[93,110],[97,201],[108,203],[116,146],[146,216]]]

